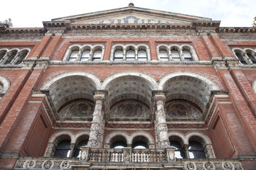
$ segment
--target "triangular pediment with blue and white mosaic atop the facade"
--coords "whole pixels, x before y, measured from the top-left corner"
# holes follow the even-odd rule
[[[189,16],[180,13],[157,11],[146,8],[128,6],[95,13],[85,13],[77,16],[55,18],[52,21],[70,21],[73,25],[80,24],[161,24],[161,23],[191,23],[191,21],[210,21],[210,18]]]

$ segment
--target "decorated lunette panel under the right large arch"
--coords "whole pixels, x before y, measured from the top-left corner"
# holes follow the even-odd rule
[[[165,111],[167,120],[200,120],[203,117],[198,108],[185,101],[168,102],[166,103]]]

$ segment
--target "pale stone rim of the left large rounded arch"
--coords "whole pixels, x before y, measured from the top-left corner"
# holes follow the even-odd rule
[[[83,72],[83,71],[74,71],[74,72],[64,72],[61,74],[56,75],[52,79],[46,81],[45,84],[41,87],[41,89],[49,89],[50,86],[55,83],[56,81],[63,79],[65,77],[73,77],[73,76],[81,76],[90,79],[91,82],[95,85],[96,89],[100,89],[100,78],[97,77],[95,74],[90,72]]]

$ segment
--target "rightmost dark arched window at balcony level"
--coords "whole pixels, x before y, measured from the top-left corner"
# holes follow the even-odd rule
[[[206,158],[203,145],[195,140],[189,141],[188,154],[191,159]]]

